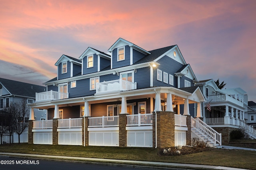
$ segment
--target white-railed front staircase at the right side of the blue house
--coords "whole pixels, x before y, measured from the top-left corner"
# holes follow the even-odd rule
[[[210,147],[222,148],[221,133],[218,133],[199,118],[194,119],[191,117],[191,131],[198,136],[198,138],[208,142]]]

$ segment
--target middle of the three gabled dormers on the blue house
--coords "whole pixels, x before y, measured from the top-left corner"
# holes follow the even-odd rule
[[[82,60],[82,75],[101,71],[110,65],[110,55],[91,47],[79,59]]]

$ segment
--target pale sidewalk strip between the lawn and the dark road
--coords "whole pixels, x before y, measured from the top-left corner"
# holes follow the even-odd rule
[[[64,160],[85,160],[85,161],[94,161],[94,162],[104,162],[104,163],[132,163],[132,164],[140,164],[140,165],[156,165],[156,166],[178,166],[178,167],[194,167],[194,168],[212,168],[212,169],[221,169],[221,170],[245,170],[240,168],[229,168],[224,166],[210,166],[210,165],[197,165],[197,164],[178,164],[178,163],[168,163],[168,162],[148,162],[148,161],[135,161],[135,160],[116,160],[116,159],[102,159],[102,158],[81,158],[81,157],[72,157],[72,156],[53,156],[53,155],[40,155],[40,154],[19,154],[19,153],[6,153],[0,152],[0,155],[8,155],[8,156],[22,156],[22,157],[36,157],[36,158],[57,158]],[[124,165],[126,166],[126,165]]]

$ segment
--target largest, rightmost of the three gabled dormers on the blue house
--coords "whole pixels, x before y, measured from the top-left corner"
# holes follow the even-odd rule
[[[111,69],[133,65],[136,61],[142,59],[150,52],[119,38],[109,49],[111,53]]]

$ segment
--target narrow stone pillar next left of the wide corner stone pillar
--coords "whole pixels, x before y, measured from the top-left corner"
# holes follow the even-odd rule
[[[126,132],[126,123],[127,123],[127,114],[119,115],[119,147],[127,146],[127,132]]]

